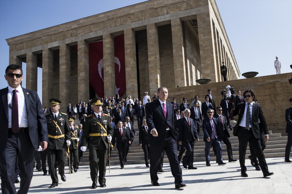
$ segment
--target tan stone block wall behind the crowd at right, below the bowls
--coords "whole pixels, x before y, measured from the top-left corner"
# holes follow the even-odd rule
[[[227,85],[234,88],[235,92],[241,90],[241,95],[250,88],[255,92],[258,103],[262,106],[263,114],[267,120],[269,130],[273,133],[281,133],[287,136],[285,110],[290,107],[289,99],[292,97],[292,86],[288,82],[291,73],[254,77],[248,79],[238,79],[225,82],[208,83],[197,86],[187,86],[168,89],[168,101],[176,97],[178,104],[182,103],[182,98],[186,97],[188,102],[194,100],[198,95],[199,100],[204,102],[204,96],[208,94],[208,89],[212,90],[216,106],[220,105],[222,99],[220,92],[225,90]],[[234,117],[237,120],[237,116]]]

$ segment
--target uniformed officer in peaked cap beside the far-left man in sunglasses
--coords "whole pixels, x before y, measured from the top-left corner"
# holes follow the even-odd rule
[[[60,113],[60,103],[58,99],[50,99],[52,113],[46,114],[48,126],[48,167],[51,174],[52,184],[49,188],[58,186],[57,165],[61,180],[66,181],[64,175],[66,163],[66,144],[70,145],[70,129],[66,113]]]

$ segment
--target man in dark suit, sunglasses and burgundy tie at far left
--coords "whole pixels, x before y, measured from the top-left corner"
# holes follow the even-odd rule
[[[17,160],[20,170],[18,193],[28,192],[34,169],[34,151],[40,147],[45,150],[48,145],[46,118],[39,96],[20,86],[22,73],[19,65],[9,65],[4,75],[8,87],[0,90],[0,173],[4,194],[16,194]]]

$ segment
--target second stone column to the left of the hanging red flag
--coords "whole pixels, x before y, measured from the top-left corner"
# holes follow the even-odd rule
[[[60,99],[62,101],[61,111],[66,112],[67,106],[71,102],[71,92],[70,92],[70,46],[61,45],[60,46],[60,66],[59,66],[59,94]],[[88,86],[89,87],[89,86]],[[82,99],[83,100],[83,99]],[[84,99],[86,102],[88,99]],[[73,107],[73,106],[72,106]]]

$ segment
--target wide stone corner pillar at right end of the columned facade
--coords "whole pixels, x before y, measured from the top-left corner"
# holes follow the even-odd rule
[[[197,14],[199,47],[201,56],[202,78],[210,78],[212,82],[218,82],[215,44],[213,39],[213,24],[210,12]]]

